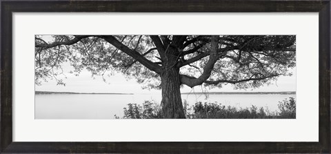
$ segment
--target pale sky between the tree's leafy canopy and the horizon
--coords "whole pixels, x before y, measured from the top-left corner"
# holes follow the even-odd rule
[[[77,93],[135,93],[135,94],[149,94],[161,93],[161,90],[143,90],[141,84],[138,84],[135,79],[127,79],[121,73],[114,73],[108,77],[94,76],[88,70],[83,70],[79,76],[70,74],[73,70],[71,66],[63,66],[64,76],[58,77],[63,79],[66,86],[57,85],[54,79],[48,79],[48,82],[42,82],[41,86],[35,86],[37,91],[57,91],[57,92],[77,92]],[[202,86],[195,86],[190,88],[184,86],[181,88],[181,93],[194,93],[194,92],[270,92],[270,91],[296,91],[296,74],[295,68],[291,70],[293,75],[291,77],[279,77],[277,81],[272,81],[269,86],[262,86],[255,89],[247,90],[234,90],[231,84],[223,86],[223,88],[203,88]]]

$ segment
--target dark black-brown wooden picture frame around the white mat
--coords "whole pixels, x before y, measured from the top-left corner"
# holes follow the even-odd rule
[[[12,142],[12,12],[319,12],[319,142]],[[331,153],[330,0],[1,1],[1,153]]]

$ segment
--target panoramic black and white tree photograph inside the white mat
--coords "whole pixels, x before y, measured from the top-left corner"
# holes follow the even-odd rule
[[[296,35],[35,35],[35,119],[296,119]]]

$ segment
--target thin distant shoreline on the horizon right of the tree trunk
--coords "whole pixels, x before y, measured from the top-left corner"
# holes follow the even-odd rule
[[[295,95],[295,91],[281,91],[281,92],[195,92],[195,93],[181,93],[185,95]]]

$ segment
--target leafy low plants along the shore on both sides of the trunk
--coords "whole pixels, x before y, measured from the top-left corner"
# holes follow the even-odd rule
[[[293,97],[279,102],[279,111],[270,112],[268,108],[250,106],[249,108],[237,108],[234,106],[223,106],[217,102],[197,102],[188,106],[183,102],[184,112],[187,119],[295,119],[296,101]],[[152,101],[145,101],[143,106],[139,104],[128,104],[123,108],[123,119],[159,119],[161,118],[161,106]],[[115,115],[115,118],[120,117]]]

